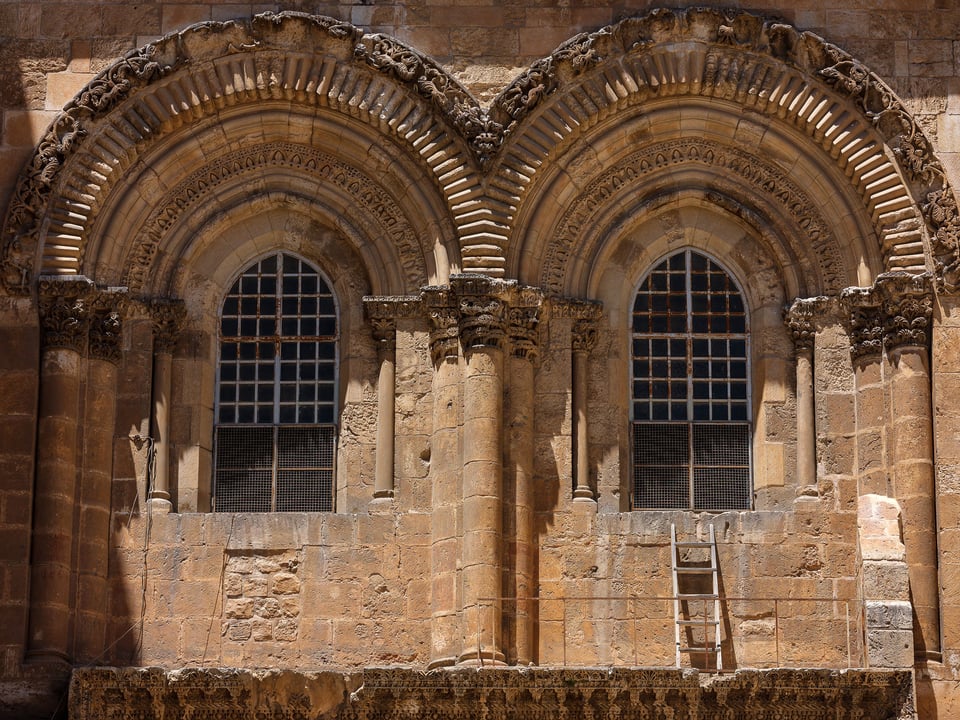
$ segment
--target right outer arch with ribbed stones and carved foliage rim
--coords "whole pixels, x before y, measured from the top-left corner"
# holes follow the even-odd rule
[[[605,122],[642,118],[657,102],[671,104],[679,119],[685,107],[718,101],[761,128],[794,133],[806,155],[830,167],[824,194],[858,198],[861,224],[870,226],[881,258],[868,281],[885,270],[935,267],[955,284],[960,217],[953,191],[893,91],[811,33],[713,9],[656,10],[577,36],[498,96],[491,117],[503,125],[505,141],[489,185],[502,208],[497,222],[513,233],[508,271],[528,250],[532,208],[555,192],[541,176],[578,141],[590,144]],[[725,131],[740,144],[738,122]]]

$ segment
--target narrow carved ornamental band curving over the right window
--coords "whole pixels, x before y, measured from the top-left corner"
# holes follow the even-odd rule
[[[813,249],[824,284],[835,291],[845,286],[847,272],[829,224],[820,215],[816,204],[786,173],[743,150],[694,139],[657,143],[638,150],[590,182],[568,205],[556,225],[554,239],[543,263],[543,287],[555,293],[563,291],[574,248],[582,242],[586,229],[596,225],[597,213],[608,207],[611,201],[616,201],[618,195],[636,192],[637,185],[644,178],[688,165],[736,177],[745,181],[752,192],[769,198],[784,215],[792,218],[806,245]]]

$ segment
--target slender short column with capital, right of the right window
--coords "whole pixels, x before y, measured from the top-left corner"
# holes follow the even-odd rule
[[[804,495],[817,494],[817,430],[813,387],[815,315],[826,298],[798,298],[786,313],[787,328],[796,349],[797,372],[797,486]]]

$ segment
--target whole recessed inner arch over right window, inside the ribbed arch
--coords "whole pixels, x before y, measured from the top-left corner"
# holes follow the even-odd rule
[[[741,232],[765,243],[789,293],[839,292],[880,271],[879,258],[862,267],[859,250],[866,246],[858,230],[868,227],[832,222],[822,210],[828,199],[757,154],[703,135],[638,147],[610,157],[602,171],[572,187],[562,187],[570,172],[556,171],[553,185],[561,187],[548,185],[551,200],[538,204],[518,251],[521,279],[553,293],[593,297],[604,263],[622,265],[618,254],[643,251],[629,236],[647,215],[665,218],[690,205],[734,218]],[[845,243],[837,237],[843,231]],[[665,226],[668,243],[671,232],[682,244],[683,228]]]

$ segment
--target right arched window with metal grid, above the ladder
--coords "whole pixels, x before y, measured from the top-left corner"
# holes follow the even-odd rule
[[[633,306],[634,509],[748,509],[749,334],[743,296],[716,262],[682,250]]]

